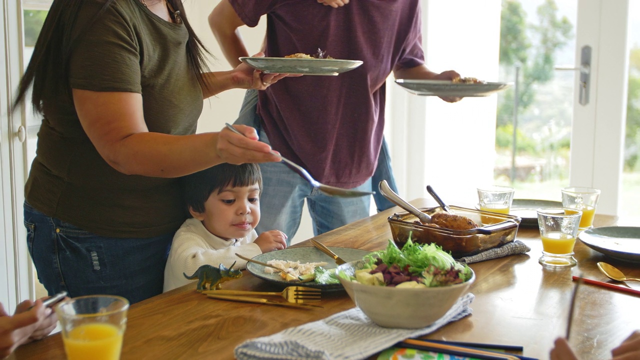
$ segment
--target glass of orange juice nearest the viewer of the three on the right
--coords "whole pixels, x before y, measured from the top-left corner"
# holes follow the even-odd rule
[[[573,208],[538,209],[538,227],[542,238],[542,256],[547,266],[574,266],[573,245],[578,235],[582,211]]]

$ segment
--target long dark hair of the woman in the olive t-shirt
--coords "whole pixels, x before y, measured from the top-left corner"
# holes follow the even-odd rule
[[[24,96],[31,85],[33,85],[31,102],[33,108],[38,113],[43,112],[47,102],[58,102],[61,95],[67,98],[71,96],[71,88],[68,83],[68,64],[74,45],[76,45],[79,40],[79,38],[73,37],[72,34],[87,33],[88,27],[93,23],[93,20],[86,22],[84,29],[74,31],[77,13],[80,8],[89,1],[104,3],[100,10],[93,15],[93,20],[95,20],[115,0],[53,1],[42,25],[42,30],[40,30],[40,35],[38,35],[38,40],[36,40],[29,65],[22,79],[20,79],[18,94],[13,100],[11,111],[15,110],[18,104],[24,101]],[[187,41],[189,65],[191,65],[191,68],[195,72],[200,86],[205,88],[206,81],[202,74],[207,70],[205,53],[209,53],[209,51],[205,49],[191,28],[191,25],[189,25],[189,21],[184,13],[182,1],[166,1],[174,10],[180,12],[180,19],[182,19],[184,26],[189,32],[189,40]]]

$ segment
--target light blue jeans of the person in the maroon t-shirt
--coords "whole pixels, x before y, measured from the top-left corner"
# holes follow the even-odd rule
[[[255,127],[260,141],[269,143],[260,126],[256,106],[257,91],[248,90],[236,124]],[[369,216],[371,197],[340,198],[324,195],[284,163],[262,163],[260,171],[263,191],[260,196],[261,217],[256,227],[257,233],[277,229],[287,234],[287,242],[290,242],[300,227],[305,199],[316,236]],[[371,186],[369,179],[354,189],[369,191]]]

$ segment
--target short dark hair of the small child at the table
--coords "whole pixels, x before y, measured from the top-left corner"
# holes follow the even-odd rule
[[[213,192],[227,187],[251,186],[257,183],[262,192],[262,173],[254,163],[232,165],[221,163],[214,167],[182,177],[182,188],[187,209],[204,213],[204,203]]]

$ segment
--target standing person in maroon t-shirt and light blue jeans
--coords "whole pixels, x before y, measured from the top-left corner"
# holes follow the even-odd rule
[[[256,26],[262,15],[266,56],[322,49],[332,58],[364,61],[339,76],[287,78],[265,91],[247,92],[236,121],[256,127],[260,140],[324,184],[371,190],[377,186],[376,167],[391,176],[383,147],[385,81],[391,72],[398,79],[460,76],[452,70],[438,74],[424,64],[419,0],[351,1],[338,10],[312,0],[222,0],[209,24],[232,65],[248,56],[237,28]],[[260,168],[265,211],[258,233],[281,229],[291,239],[305,199],[316,235],[369,216],[371,197],[329,197],[282,163]]]

